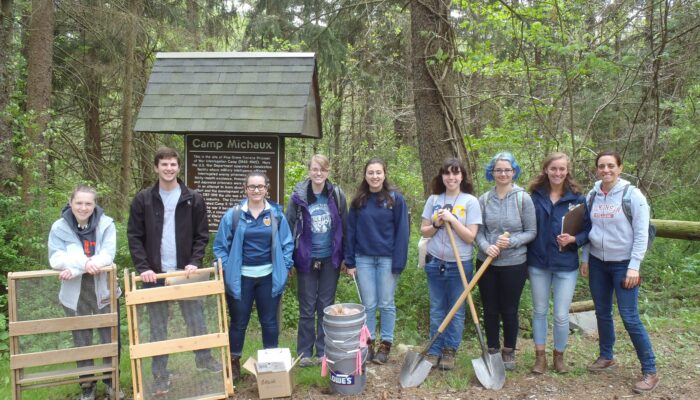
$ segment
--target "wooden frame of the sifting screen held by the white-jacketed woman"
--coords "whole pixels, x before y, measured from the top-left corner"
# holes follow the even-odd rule
[[[49,318],[19,321],[17,318],[17,281],[30,278],[56,277],[61,271],[41,270],[10,272],[7,275],[8,286],[8,316],[10,334],[10,380],[12,399],[20,400],[22,391],[31,388],[66,385],[71,383],[97,382],[111,378],[114,396],[119,393],[119,318],[117,316],[117,266],[102,268],[107,273],[110,288],[110,313],[99,315],[82,315],[76,317]],[[58,296],[58,293],[56,293]],[[76,329],[110,328],[111,342],[91,346],[73,347],[63,350],[49,350],[33,353],[22,353],[19,341],[23,336],[46,333],[70,332]],[[61,370],[25,373],[25,368],[43,367],[87,359],[111,357],[110,365],[95,364],[86,367],[74,367]],[[93,374],[82,377],[81,375]]]

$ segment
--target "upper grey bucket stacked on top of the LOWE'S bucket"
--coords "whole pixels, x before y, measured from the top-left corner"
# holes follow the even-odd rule
[[[343,306],[344,309],[357,310],[351,315],[333,315],[334,307]],[[323,333],[326,348],[336,351],[351,351],[360,347],[360,331],[367,320],[365,306],[362,304],[343,303],[334,304],[323,309]]]

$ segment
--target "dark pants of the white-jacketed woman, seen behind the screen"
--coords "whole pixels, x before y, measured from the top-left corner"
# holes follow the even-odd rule
[[[63,311],[67,317],[77,317],[80,315],[98,315],[108,314],[112,312],[110,306],[99,308],[97,306],[97,296],[95,295],[95,280],[92,275],[83,274],[80,282],[80,295],[78,296],[77,310],[73,311],[64,306]],[[97,333],[100,335],[100,342],[112,342],[112,328],[98,328]],[[92,346],[92,329],[76,329],[71,331],[73,334],[73,343],[75,347]],[[121,340],[119,338],[119,302],[117,301],[117,367],[119,366],[119,356],[121,355]],[[102,359],[103,364],[111,364],[112,357]],[[79,360],[76,362],[78,367],[88,367],[95,365],[94,360]],[[90,377],[92,375],[81,375],[81,378]],[[103,379],[107,386],[112,386],[112,379]]]

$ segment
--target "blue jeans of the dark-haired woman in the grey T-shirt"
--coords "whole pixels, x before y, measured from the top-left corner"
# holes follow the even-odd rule
[[[462,265],[467,279],[471,280],[471,260],[462,261]],[[428,290],[430,292],[430,337],[432,338],[459,296],[464,293],[464,284],[455,262],[433,258],[425,265],[425,273],[428,276]],[[430,346],[428,354],[439,356],[443,349],[457,350],[459,348],[464,332],[464,310],[464,304],[462,304],[442,335]]]

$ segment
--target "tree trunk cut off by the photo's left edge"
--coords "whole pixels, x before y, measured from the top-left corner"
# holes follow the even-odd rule
[[[12,53],[12,3],[13,0],[0,0],[0,194],[9,195],[15,192],[9,182],[17,177],[15,163],[12,161],[14,146],[10,121],[3,115],[10,103],[12,94],[11,71],[9,66]]]

